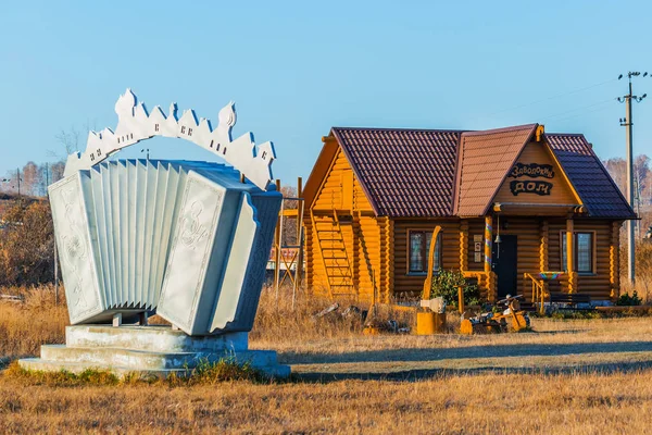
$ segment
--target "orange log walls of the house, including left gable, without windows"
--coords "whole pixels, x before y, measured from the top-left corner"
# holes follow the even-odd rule
[[[480,251],[481,261],[476,262],[474,238],[476,235],[484,236],[484,219],[461,221],[376,217],[341,149],[336,153],[306,215],[305,278],[309,288],[316,294],[327,295],[329,283],[328,268],[323,261],[324,244],[321,247],[317,243],[317,232],[326,235],[334,225],[338,225],[337,221],[343,240],[342,254],[348,258],[351,268],[351,293],[356,294],[361,302],[371,302],[374,291],[378,302],[421,295],[425,274],[411,274],[408,271],[410,229],[431,232],[437,225],[442,227],[444,270],[484,270],[484,249]],[[501,235],[517,236],[518,291],[531,298],[531,283],[523,279],[524,273],[565,269],[561,263],[561,233],[566,229],[566,221],[563,217],[501,216]],[[496,235],[497,219],[493,226]],[[577,277],[578,293],[587,294],[593,299],[617,296],[620,222],[577,219],[574,227],[576,232],[593,232],[595,245],[595,273]],[[487,297],[487,277],[478,276],[478,284],[482,296]],[[567,279],[561,284],[551,282],[549,285],[551,291],[565,290],[567,287]]]

